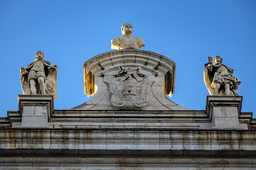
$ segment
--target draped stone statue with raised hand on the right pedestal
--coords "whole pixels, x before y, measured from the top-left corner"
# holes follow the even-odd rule
[[[238,96],[235,91],[239,88],[241,81],[238,81],[233,74],[233,69],[222,64],[223,59],[216,55],[212,62],[212,57],[208,57],[205,64],[203,78],[210,95]],[[214,65],[213,65],[214,63]]]

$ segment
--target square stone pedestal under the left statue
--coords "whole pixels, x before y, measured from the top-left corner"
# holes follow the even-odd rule
[[[21,127],[48,128],[53,113],[53,96],[18,95],[18,110],[21,113]]]

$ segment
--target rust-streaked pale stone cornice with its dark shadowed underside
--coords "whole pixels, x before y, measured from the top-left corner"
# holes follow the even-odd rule
[[[218,152],[233,153],[233,157],[256,151],[255,130],[143,130],[143,129],[7,129],[0,128],[0,153],[16,150],[20,154],[40,153],[58,155],[139,155],[160,156],[182,152],[195,155],[201,152],[213,155]],[[26,152],[24,152],[26,150]],[[78,152],[75,152],[75,151]],[[125,150],[125,152],[124,152]],[[23,151],[23,152],[22,152]],[[140,152],[138,152],[140,151]],[[186,151],[186,152],[185,152]],[[47,152],[47,153],[46,153]],[[250,153],[249,153],[250,152]],[[181,153],[180,153],[181,154]],[[205,156],[203,155],[203,157]]]

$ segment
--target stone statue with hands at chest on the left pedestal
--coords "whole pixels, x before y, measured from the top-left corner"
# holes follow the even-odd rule
[[[43,60],[43,51],[36,52],[36,59],[24,69],[21,67],[23,94],[50,94],[57,98],[56,83],[58,66]]]

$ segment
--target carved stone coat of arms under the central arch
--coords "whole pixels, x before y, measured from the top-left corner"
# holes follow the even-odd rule
[[[149,101],[154,75],[142,74],[142,67],[119,67],[119,74],[105,75],[111,103],[117,108],[142,108]]]

